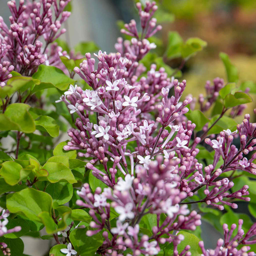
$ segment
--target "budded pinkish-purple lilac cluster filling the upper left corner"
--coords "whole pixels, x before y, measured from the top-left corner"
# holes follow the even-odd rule
[[[66,29],[61,29],[61,25],[70,16],[70,12],[63,11],[69,2],[40,0],[25,4],[20,0],[18,5],[15,0],[8,2],[12,14],[10,28],[0,17],[1,87],[13,70],[31,76],[40,64],[57,66],[59,55],[67,55],[56,44],[52,44],[50,52],[47,46],[65,33]]]

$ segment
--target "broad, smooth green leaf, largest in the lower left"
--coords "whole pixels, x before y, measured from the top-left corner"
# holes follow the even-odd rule
[[[22,213],[31,221],[41,222],[41,212],[51,213],[52,198],[49,194],[26,188],[6,197],[6,207],[12,213]]]

